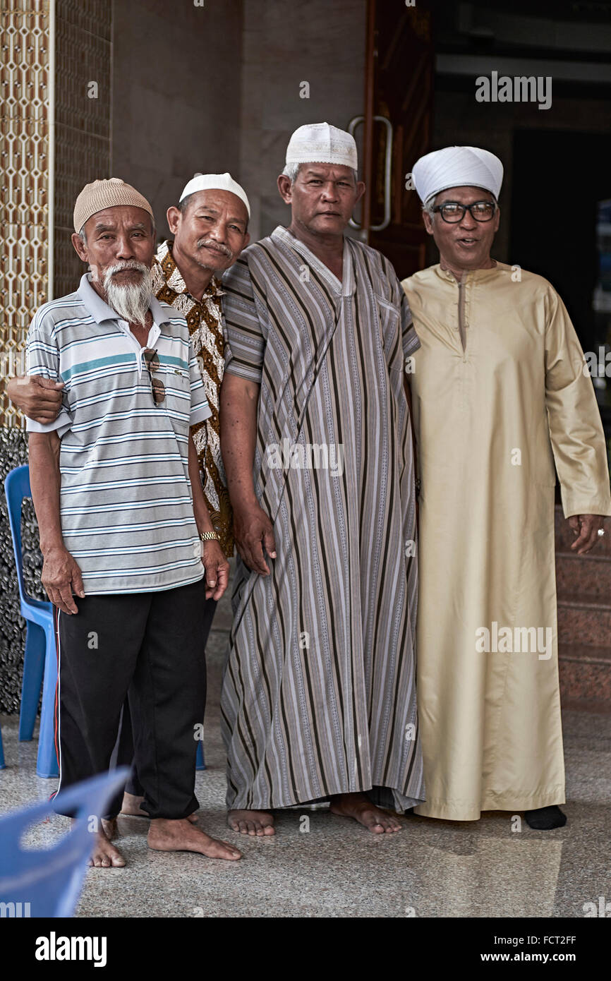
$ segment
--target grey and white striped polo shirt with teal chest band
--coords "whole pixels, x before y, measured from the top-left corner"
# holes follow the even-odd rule
[[[166,389],[155,405],[144,348],[82,277],[45,303],[27,334],[27,374],[65,383],[54,423],[27,431],[61,438],[60,511],[85,594],[144,593],[203,576],[188,477],[189,426],[211,409],[186,321],[151,295],[147,346]]]

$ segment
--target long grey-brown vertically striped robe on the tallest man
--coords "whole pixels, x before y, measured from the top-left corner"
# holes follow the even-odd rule
[[[228,806],[365,791],[404,809],[424,796],[409,307],[379,252],[345,239],[340,283],[282,228],[224,288],[226,371],[260,385],[255,492],[277,549],[269,576],[237,559]]]

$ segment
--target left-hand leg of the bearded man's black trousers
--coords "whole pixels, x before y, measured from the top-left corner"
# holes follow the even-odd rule
[[[62,791],[103,773],[117,741],[125,701],[145,633],[150,594],[91,595],[78,612],[58,612],[60,785]],[[117,799],[108,816],[117,813]]]

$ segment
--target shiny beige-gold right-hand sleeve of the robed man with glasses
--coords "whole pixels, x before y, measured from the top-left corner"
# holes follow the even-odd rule
[[[607,448],[584,352],[566,307],[550,288],[545,404],[566,518],[611,515]]]

